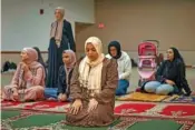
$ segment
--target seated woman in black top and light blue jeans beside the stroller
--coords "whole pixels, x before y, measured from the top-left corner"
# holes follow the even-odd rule
[[[169,93],[183,93],[191,94],[185,77],[185,62],[176,48],[169,48],[167,50],[167,60],[162,62],[157,72],[157,81],[149,81],[144,84],[144,90],[157,94],[169,94]]]

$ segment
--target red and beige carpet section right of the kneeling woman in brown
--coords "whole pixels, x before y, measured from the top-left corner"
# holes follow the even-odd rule
[[[195,104],[125,102],[115,107],[115,114],[195,119]]]

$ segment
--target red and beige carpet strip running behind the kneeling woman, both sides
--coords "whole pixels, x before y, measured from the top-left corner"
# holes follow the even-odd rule
[[[69,102],[38,101],[38,102],[11,102],[2,101],[4,110],[33,110],[42,112],[66,113]],[[118,116],[152,116],[165,118],[195,119],[194,103],[165,103],[165,102],[138,102],[118,101],[115,104],[115,113]]]

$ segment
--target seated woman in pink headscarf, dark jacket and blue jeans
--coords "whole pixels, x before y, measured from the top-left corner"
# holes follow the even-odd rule
[[[59,68],[58,87],[46,88],[45,97],[49,100],[58,99],[58,101],[67,101],[69,96],[69,84],[72,70],[76,63],[76,54],[72,50],[65,50],[62,52],[64,64]]]

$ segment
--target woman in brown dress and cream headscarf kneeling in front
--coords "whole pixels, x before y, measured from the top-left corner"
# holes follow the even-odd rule
[[[101,41],[90,37],[85,43],[86,57],[74,69],[70,98],[72,104],[67,124],[95,127],[110,124],[114,118],[117,62],[105,58]]]

